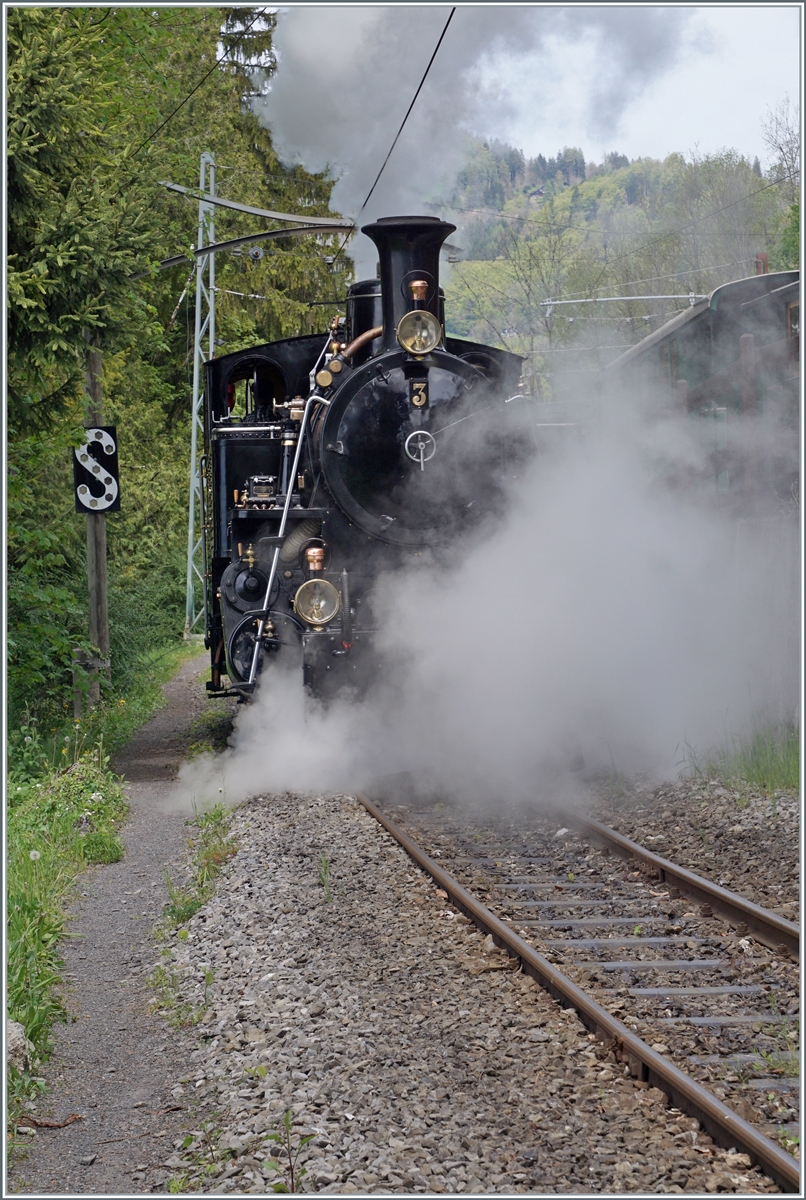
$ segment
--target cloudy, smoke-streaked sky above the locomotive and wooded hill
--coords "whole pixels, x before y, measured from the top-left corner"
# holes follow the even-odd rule
[[[260,115],[284,161],[330,168],[333,209],[355,216],[450,7],[277,12]],[[798,102],[800,20],[795,5],[459,5],[361,217],[422,211],[461,167],[468,133],[527,156],[734,148],[764,164],[762,121],[787,94]]]

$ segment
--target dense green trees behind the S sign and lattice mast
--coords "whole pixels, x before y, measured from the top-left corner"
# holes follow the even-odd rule
[[[107,520],[113,694],[181,635],[196,288],[190,262],[157,264],[188,253],[197,205],[158,182],[197,186],[209,150],[221,196],[329,214],[331,181],[282,167],[249,109],[273,71],[273,20],[254,8],[8,11],[12,742],[25,714],[44,734],[64,732],[71,650],[86,646],[72,448],[90,344],[102,352],[104,422],[116,424],[120,450],[122,506]],[[271,224],[219,209],[216,236]],[[337,245],[296,238],[257,263],[218,256],[221,344],[326,320],[309,302],[343,295],[345,276],[325,259]]]

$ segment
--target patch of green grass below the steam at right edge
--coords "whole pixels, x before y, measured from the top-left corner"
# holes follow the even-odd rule
[[[705,755],[686,748],[684,773],[759,791],[793,791],[800,782],[800,731],[794,725],[754,726],[745,736],[726,736]]]

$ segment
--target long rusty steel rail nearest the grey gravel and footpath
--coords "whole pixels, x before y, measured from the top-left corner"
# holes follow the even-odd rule
[[[479,929],[489,934],[493,941],[512,958],[519,960],[525,974],[536,979],[541,988],[554,996],[564,1008],[576,1009],[583,1024],[602,1040],[615,1043],[620,1058],[627,1062],[631,1074],[657,1087],[668,1096],[670,1104],[696,1117],[717,1145],[724,1148],[735,1146],[762,1166],[783,1192],[800,1194],[800,1164],[796,1159],[760,1134],[754,1126],[729,1109],[702,1084],[648,1046],[632,1030],[558,971],[548,959],[524,942],[515,930],[480,904],[467,888],[426,854],[417,842],[403,833],[368,797],[359,792],[356,798],[407,854],[447,892],[457,908],[461,908]]]

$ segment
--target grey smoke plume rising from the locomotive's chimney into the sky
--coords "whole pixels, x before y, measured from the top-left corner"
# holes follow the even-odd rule
[[[287,162],[330,169],[333,208],[356,216],[389,151],[450,8],[318,6],[281,10],[278,70],[258,115]],[[587,89],[587,133],[614,136],[626,107],[682,54],[685,8],[459,6],[362,221],[422,212],[450,191],[468,133],[500,137],[518,103],[512,80],[530,79],[551,54],[593,40],[597,70]],[[540,122],[540,108],[535,110]],[[546,130],[546,152],[555,137]],[[446,212],[447,210],[443,210]],[[359,277],[374,250],[359,239]]]

